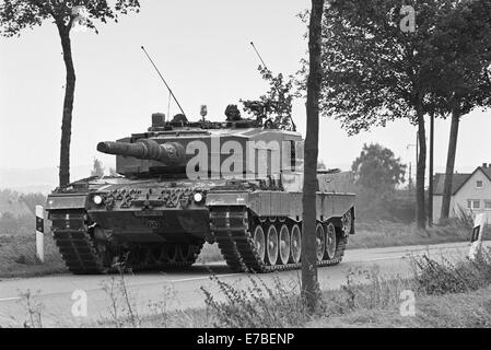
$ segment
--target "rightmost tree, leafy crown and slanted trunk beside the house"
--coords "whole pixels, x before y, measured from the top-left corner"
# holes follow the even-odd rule
[[[461,116],[491,104],[491,3],[456,3],[434,34],[436,98],[451,114],[451,133],[441,219],[448,219]]]

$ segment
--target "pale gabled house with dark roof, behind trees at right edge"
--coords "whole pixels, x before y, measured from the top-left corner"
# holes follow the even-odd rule
[[[445,174],[436,174],[433,183],[433,222],[442,212]],[[482,164],[471,174],[454,174],[452,183],[451,217],[459,212],[486,213],[491,222],[491,164]]]

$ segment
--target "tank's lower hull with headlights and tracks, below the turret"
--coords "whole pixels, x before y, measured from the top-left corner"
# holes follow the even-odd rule
[[[293,257],[293,245],[300,249],[302,235],[300,191],[245,189],[243,184],[225,185],[226,180],[81,183],[86,185],[83,190],[54,192],[47,201],[55,241],[74,273],[104,273],[121,264],[131,270],[189,267],[204,242],[217,243],[234,271],[301,266],[300,257]],[[194,198],[198,192],[200,201]],[[354,233],[355,196],[317,192],[316,197],[317,222],[325,237],[318,265],[336,265],[348,235]],[[329,228],[336,242],[327,255]],[[262,241],[257,237],[260,231]],[[278,252],[261,250],[268,240]]]

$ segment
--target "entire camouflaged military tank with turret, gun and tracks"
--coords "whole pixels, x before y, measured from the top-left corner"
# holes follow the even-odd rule
[[[234,112],[224,122],[154,114],[145,132],[100,142],[100,152],[116,155],[118,176],[80,179],[47,199],[68,269],[185,268],[206,242],[234,271],[300,268],[302,137]],[[354,233],[344,175],[318,173],[318,266],[339,264]]]

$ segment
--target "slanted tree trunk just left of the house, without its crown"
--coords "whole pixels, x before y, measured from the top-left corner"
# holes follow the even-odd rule
[[[448,153],[446,156],[445,183],[443,185],[442,212],[440,220],[448,219],[451,213],[452,185],[454,179],[453,174],[455,155],[457,153],[458,125],[460,121],[460,112],[457,105],[452,108],[451,138],[448,140]]]

